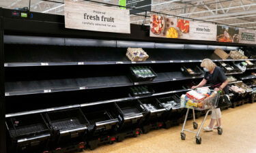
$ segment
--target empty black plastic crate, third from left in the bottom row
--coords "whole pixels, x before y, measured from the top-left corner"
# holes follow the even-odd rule
[[[81,108],[89,121],[89,133],[92,137],[114,132],[119,120],[118,112],[113,108],[115,108],[114,103],[89,105]]]

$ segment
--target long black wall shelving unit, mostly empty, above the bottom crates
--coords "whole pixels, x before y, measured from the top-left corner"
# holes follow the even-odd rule
[[[33,18],[21,19],[11,14],[12,10],[0,9],[1,153],[6,153],[5,118],[186,92],[190,89],[182,88],[184,82],[198,81],[203,75],[185,76],[180,71],[182,65],[199,65],[203,58],[212,58],[214,62],[244,61],[222,60],[214,49],[254,46],[148,37],[148,31],[134,24],[131,34],[79,31],[65,29],[63,16],[33,12]],[[128,47],[143,48],[150,58],[128,61]],[[132,82],[128,75],[131,66],[152,67],[158,77]],[[238,82],[242,81],[231,84]],[[162,90],[128,97],[131,86],[142,84]],[[40,109],[34,109],[34,105]]]

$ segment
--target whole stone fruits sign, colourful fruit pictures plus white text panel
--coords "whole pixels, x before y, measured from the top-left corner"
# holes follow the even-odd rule
[[[216,41],[216,24],[152,15],[150,36]]]

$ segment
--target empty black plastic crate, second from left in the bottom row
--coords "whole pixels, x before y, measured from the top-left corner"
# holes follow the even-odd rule
[[[89,122],[80,108],[47,112],[45,116],[55,132],[53,150],[66,148],[67,145],[77,146],[85,141]]]

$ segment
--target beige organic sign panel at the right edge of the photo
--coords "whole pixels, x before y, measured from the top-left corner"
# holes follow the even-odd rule
[[[256,31],[250,29],[239,29],[239,43],[256,44]]]

